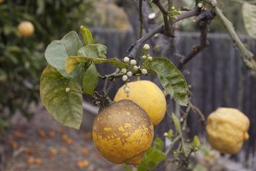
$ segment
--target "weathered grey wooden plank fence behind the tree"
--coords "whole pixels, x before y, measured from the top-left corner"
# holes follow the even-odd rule
[[[123,58],[127,56],[126,50],[132,43],[132,31],[93,29],[95,39],[108,47],[108,57]],[[208,34],[209,47],[192,59],[184,68],[184,77],[188,84],[192,85],[193,105],[200,108],[205,117],[218,107],[238,108],[250,118],[250,139],[244,142],[243,156],[248,156],[256,148],[256,78],[253,78],[245,70],[238,51],[233,47],[227,34]],[[246,46],[256,56],[256,41],[248,36],[241,37]],[[185,55],[191,52],[191,47],[199,43],[198,33],[177,33],[174,39],[174,49],[170,49],[167,56],[173,63],[176,58],[173,53]],[[115,69],[104,64],[99,68],[101,73],[111,73]],[[189,73],[189,74],[188,74]],[[156,77],[147,77],[159,84]],[[100,82],[102,84],[102,82]],[[118,80],[113,85],[110,97],[124,82]],[[99,86],[101,87],[101,86]],[[170,105],[173,110],[173,105]],[[198,115],[189,114],[189,135],[205,135],[205,128],[198,122]],[[168,131],[170,120],[166,115],[165,121],[157,126],[156,131],[163,133]],[[162,136],[157,135],[157,136]],[[239,154],[238,154],[239,155]],[[240,154],[241,156],[242,154]]]

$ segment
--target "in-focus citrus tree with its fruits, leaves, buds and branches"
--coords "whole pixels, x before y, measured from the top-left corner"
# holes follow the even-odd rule
[[[76,31],[67,33],[61,40],[52,41],[45,50],[48,66],[40,78],[40,97],[45,108],[56,121],[79,129],[83,117],[83,96],[91,96],[92,103],[100,106],[99,114],[93,123],[93,141],[102,156],[113,163],[123,163],[126,170],[131,170],[131,168],[125,163],[136,165],[138,170],[154,170],[161,161],[166,159],[166,156],[171,156],[170,160],[166,160],[167,163],[173,162],[177,168],[188,167],[191,154],[200,149],[197,136],[194,137],[192,143],[184,138],[189,111],[193,110],[200,114],[203,122],[205,119],[200,110],[190,101],[191,92],[181,72],[184,64],[207,47],[207,27],[216,15],[227,28],[241,54],[244,65],[254,74],[256,67],[253,54],[239,40],[232,23],[223,15],[216,1],[196,1],[195,8],[180,11],[170,0],[166,3],[167,9],[161,1],[152,0],[148,3],[159,8],[164,22],[152,30],[147,30],[144,35],[142,34],[144,4],[142,0],[137,3],[140,9],[141,38],[131,45],[127,57],[119,59],[106,57],[107,47],[93,43],[92,33],[84,26],[80,27],[83,41],[79,39]],[[246,5],[244,8],[255,10],[253,4],[244,4]],[[145,44],[145,41],[156,34],[173,37],[173,24],[188,17],[195,17],[195,22],[200,24],[201,45],[196,47],[188,57],[180,57],[177,67],[166,57],[152,57],[148,54],[150,46]],[[250,24],[255,24],[255,21]],[[252,29],[249,29],[250,31]],[[98,64],[100,67],[102,63],[115,67],[115,72],[100,75],[95,65]],[[150,74],[157,75],[163,92],[153,82],[140,80],[141,75]],[[118,78],[122,78],[124,85],[120,87],[113,101],[108,96],[110,89],[108,82],[115,82]],[[95,91],[99,79],[104,80],[102,91]],[[166,111],[168,101],[165,97],[168,96],[172,96],[178,105],[187,107],[184,114],[178,115]],[[207,121],[207,131],[209,130],[208,135],[212,138],[212,142],[215,141],[214,138],[218,139],[215,136],[218,135],[218,130],[216,130],[218,119],[216,118],[221,118],[220,122],[225,123],[227,122],[225,118],[228,117],[230,111],[234,110],[224,109],[221,112],[217,110],[217,114],[213,114]],[[166,149],[160,138],[155,138],[153,142],[154,126],[161,124],[165,113],[170,116],[175,128],[175,130],[166,130],[164,133],[164,137],[171,141]],[[218,117],[218,115],[221,116]],[[241,148],[241,144],[238,149],[231,150],[231,152],[219,148],[219,146],[230,145],[228,142],[236,139],[234,138],[236,132],[241,134],[239,136],[241,139],[236,139],[237,141],[243,142],[248,139],[246,133],[249,126],[248,119],[239,111],[236,111],[236,117],[243,119],[246,126],[242,129],[236,126],[235,121],[230,121],[228,128],[232,129],[225,131],[227,129],[222,126],[227,127],[227,124],[219,124],[221,133],[233,136],[233,138],[228,140],[219,138],[220,144],[212,145],[212,147],[230,154]]]

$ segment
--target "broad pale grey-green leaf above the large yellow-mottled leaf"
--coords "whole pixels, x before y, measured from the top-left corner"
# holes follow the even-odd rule
[[[79,65],[74,71],[67,73],[65,64],[68,56],[77,56],[78,50],[82,47],[75,31],[66,34],[61,40],[54,40],[45,50],[45,59],[51,66],[56,68],[60,74],[72,81],[82,85],[83,66]]]

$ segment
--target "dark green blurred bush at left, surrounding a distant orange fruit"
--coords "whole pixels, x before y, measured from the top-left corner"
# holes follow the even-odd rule
[[[9,0],[0,4],[0,129],[17,110],[26,117],[38,103],[44,50],[79,26],[93,26],[93,0]],[[29,20],[35,33],[22,37],[17,26]]]

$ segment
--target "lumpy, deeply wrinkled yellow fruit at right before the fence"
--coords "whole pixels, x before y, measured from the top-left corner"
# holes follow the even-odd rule
[[[210,145],[223,153],[238,152],[249,138],[250,121],[236,108],[218,108],[207,118],[206,131]]]

